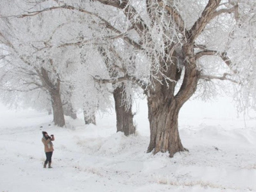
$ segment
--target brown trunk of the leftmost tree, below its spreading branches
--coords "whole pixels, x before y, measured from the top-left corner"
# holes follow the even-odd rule
[[[62,102],[60,98],[60,93],[52,91],[52,109],[53,109],[53,122],[55,125],[63,127],[65,125],[64,112],[62,107]]]

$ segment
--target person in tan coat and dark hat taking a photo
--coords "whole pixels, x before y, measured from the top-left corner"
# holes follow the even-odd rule
[[[51,164],[52,164],[52,153],[53,153],[53,144],[52,141],[55,140],[54,135],[51,135],[51,137],[48,135],[47,132],[43,131],[43,138],[42,138],[42,142],[44,143],[44,152],[46,155],[46,160],[44,162],[44,168],[46,168],[47,163],[48,164],[48,168],[52,168]]]

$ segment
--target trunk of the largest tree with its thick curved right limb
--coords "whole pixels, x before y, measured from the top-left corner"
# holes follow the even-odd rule
[[[169,83],[162,84],[155,81],[155,89],[150,90],[148,95],[148,120],[150,125],[150,143],[148,152],[169,151],[170,157],[176,152],[187,150],[180,141],[178,130],[178,116],[182,105],[193,95],[196,91],[199,72],[196,70],[196,61],[193,55],[193,45],[183,47],[183,52],[189,60],[183,61],[185,73],[182,85],[176,95],[174,90],[176,82],[180,79],[181,70],[176,65],[170,64],[169,69],[166,70],[166,76],[175,80]],[[174,54],[176,54],[174,52]],[[184,58],[185,58],[184,56]],[[172,60],[173,63],[178,60]]]

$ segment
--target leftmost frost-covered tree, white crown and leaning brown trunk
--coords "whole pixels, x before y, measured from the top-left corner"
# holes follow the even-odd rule
[[[33,18],[12,16],[19,14],[22,8],[33,8],[32,5],[24,3],[23,1],[1,1],[0,42],[6,71],[1,81],[3,90],[23,92],[42,89],[51,97],[54,123],[62,127],[65,125],[65,119],[61,94],[65,94],[69,89],[70,84],[66,77],[72,70],[68,71],[68,66],[76,62],[74,59],[76,51],[66,48],[66,45],[69,45],[68,37],[66,37],[67,41],[62,42],[60,46],[52,44],[64,38],[67,33],[61,34],[58,29],[63,25],[64,28],[69,28],[68,24],[71,21],[63,17],[62,20],[53,22],[51,18],[54,13],[50,12],[44,17],[42,15]],[[51,23],[50,26],[49,23]],[[73,30],[73,33],[71,31],[70,29],[68,35],[74,38],[77,35],[76,30]]]

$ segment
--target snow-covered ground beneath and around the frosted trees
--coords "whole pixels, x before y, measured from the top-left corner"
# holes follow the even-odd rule
[[[145,101],[135,110],[137,135],[125,137],[112,114],[98,115],[97,126],[67,117],[58,128],[46,112],[0,105],[0,192],[256,191],[256,120],[245,126],[226,101],[190,101],[179,117],[189,153],[169,158],[146,153]],[[43,169],[42,131],[55,135],[53,169]]]

